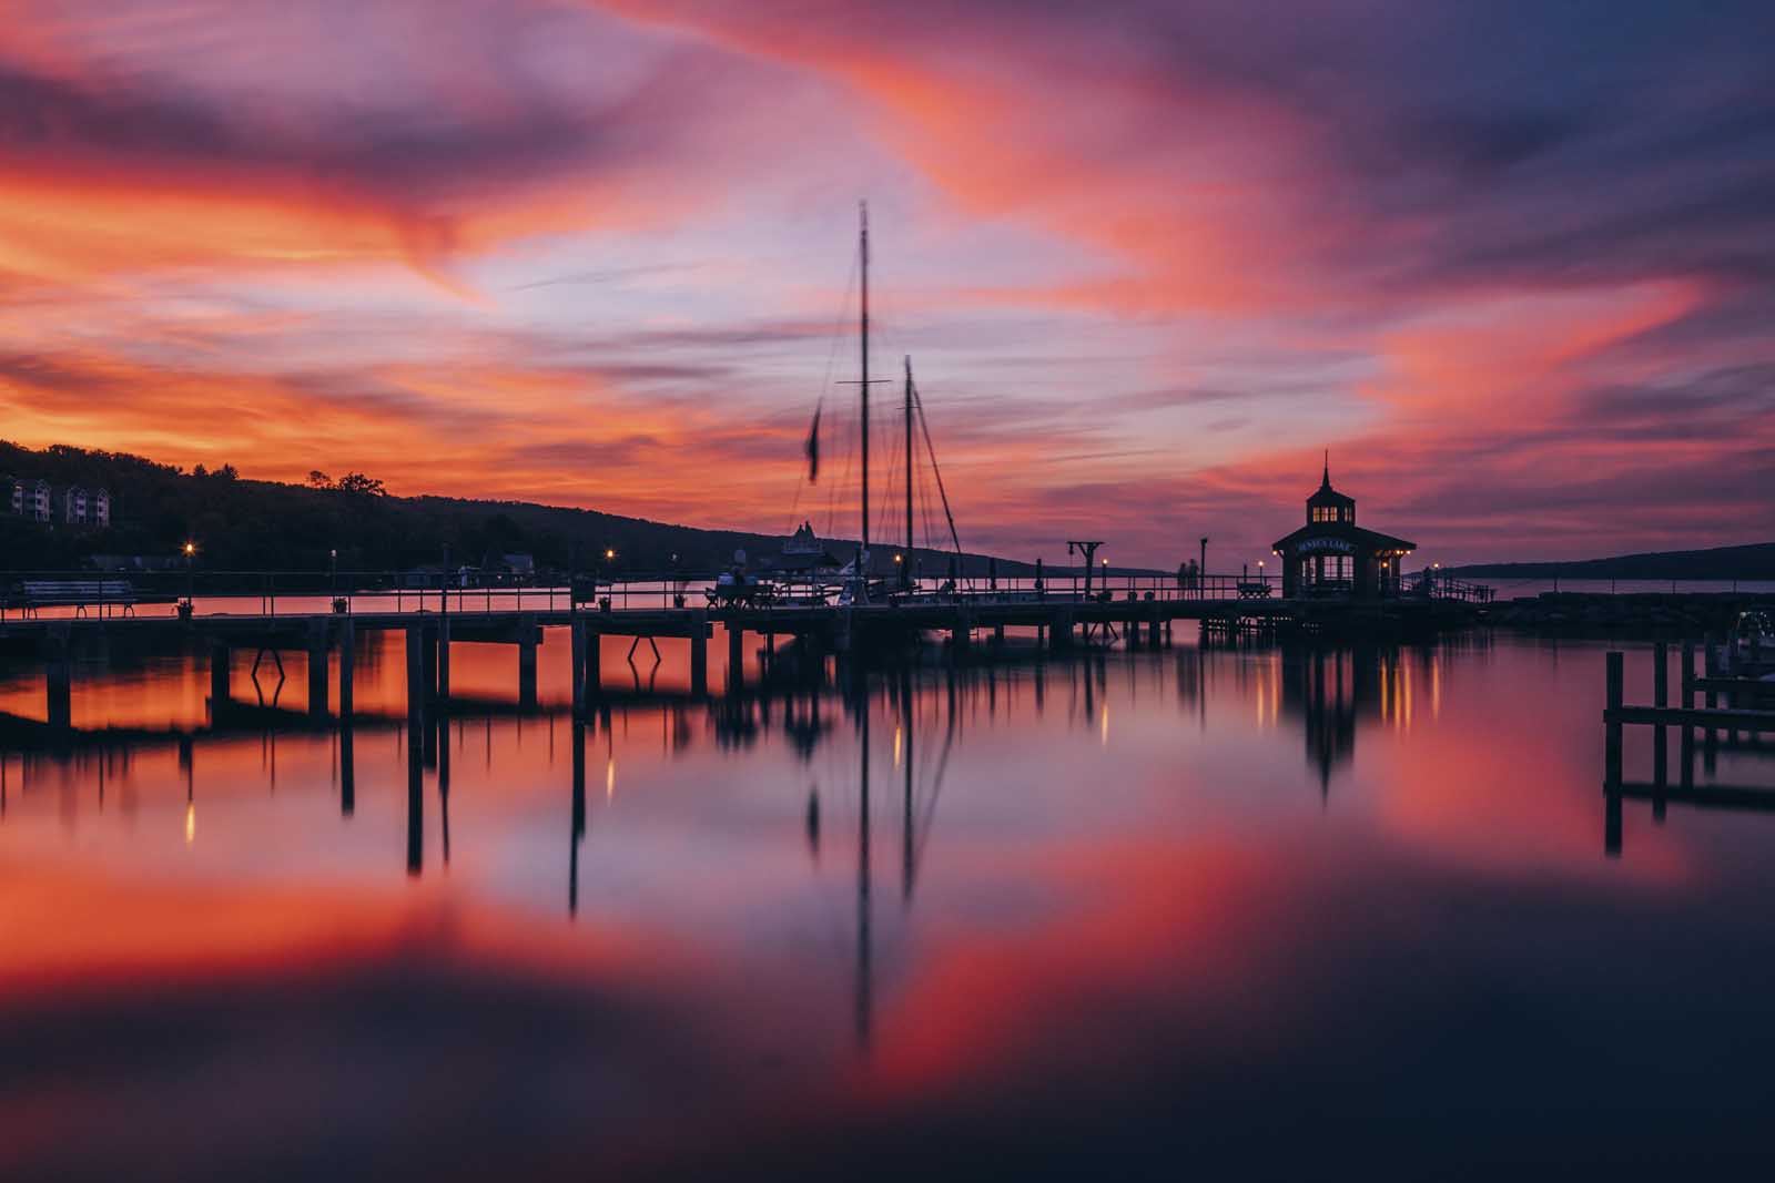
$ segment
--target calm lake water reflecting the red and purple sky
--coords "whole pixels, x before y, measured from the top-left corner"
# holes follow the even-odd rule
[[[566,647],[520,713],[456,646],[419,745],[396,635],[348,736],[300,654],[220,713],[204,656],[80,665],[78,738],[0,759],[0,1176],[1771,1162],[1775,816],[1629,802],[1610,855],[1601,644],[1179,626],[696,702],[685,642],[607,639],[584,725]]]

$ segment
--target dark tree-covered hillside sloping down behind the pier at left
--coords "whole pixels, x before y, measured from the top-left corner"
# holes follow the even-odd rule
[[[351,474],[357,475],[357,474]],[[140,456],[67,445],[43,450],[0,440],[0,477],[44,479],[53,486],[105,486],[112,495],[106,530],[53,523],[44,527],[0,513],[0,568],[73,569],[92,555],[174,555],[186,539],[211,571],[325,571],[328,550],[339,568],[385,571],[437,564],[449,546],[453,564],[481,564],[502,553],[529,553],[538,566],[564,569],[577,553],[580,569],[616,552],[612,573],[664,571],[673,555],[687,571],[714,571],[744,548],[776,555],[783,537],[733,530],[698,530],[589,509],[453,497],[387,497],[371,490],[307,488],[240,479],[231,466],[185,472]],[[831,553],[848,557],[854,541],[831,539]],[[923,571],[948,571],[948,555],[914,552]],[[891,566],[893,550],[875,548],[875,566]],[[983,575],[987,559],[967,555],[964,573]],[[999,562],[1001,575],[1026,568]]]

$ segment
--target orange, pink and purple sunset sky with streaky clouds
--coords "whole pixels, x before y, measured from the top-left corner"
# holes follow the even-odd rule
[[[971,550],[1255,562],[1321,449],[1425,562],[1768,541],[1771,44],[1766,0],[0,0],[0,436],[824,530],[868,199]]]

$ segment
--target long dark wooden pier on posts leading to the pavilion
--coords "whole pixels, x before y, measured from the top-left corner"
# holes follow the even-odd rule
[[[1099,591],[1090,598],[1069,592],[983,591],[960,592],[943,599],[889,601],[870,605],[765,605],[765,607],[614,607],[614,596],[600,594],[591,605],[579,603],[564,589],[531,591],[517,605],[474,605],[456,596],[419,599],[406,610],[334,610],[277,612],[275,599],[261,599],[259,612],[209,612],[167,615],[60,615],[0,621],[0,644],[25,649],[43,663],[46,678],[46,720],[51,729],[67,727],[71,686],[78,649],[110,644],[185,644],[209,660],[209,697],[229,704],[229,672],[236,653],[252,653],[254,669],[270,662],[282,672],[282,654],[307,658],[309,709],[327,717],[328,672],[337,662],[339,715],[353,709],[353,662],[339,654],[355,653],[357,637],[373,631],[398,631],[406,642],[408,717],[422,724],[428,711],[451,699],[451,646],[454,642],[509,644],[518,649],[518,699],[536,701],[536,649],[548,628],[564,628],[572,644],[573,706],[584,715],[604,690],[604,637],[630,639],[630,653],[646,642],[659,653],[660,642],[689,644],[690,693],[708,693],[708,642],[717,626],[728,639],[728,688],[744,686],[746,633],[756,635],[765,651],[793,640],[802,654],[822,660],[834,654],[868,654],[903,647],[927,633],[943,635],[951,654],[967,654],[976,646],[996,649],[1006,628],[1035,630],[1049,651],[1072,646],[1122,642],[1127,647],[1157,647],[1170,642],[1177,621],[1200,621],[1207,631],[1337,631],[1340,628],[1434,630],[1471,619],[1466,605],[1434,599],[1328,601],[1328,599],[1253,599],[1239,596],[1234,582],[1227,587],[1145,587],[1129,580],[1118,591]],[[659,592],[653,592],[659,594]],[[250,601],[248,601],[250,603]]]

